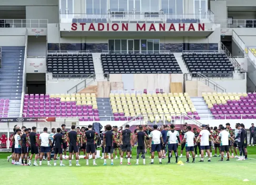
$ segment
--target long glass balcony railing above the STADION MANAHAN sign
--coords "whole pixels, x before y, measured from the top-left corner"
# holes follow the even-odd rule
[[[60,14],[60,23],[70,22],[129,22],[129,23],[214,23],[214,14],[165,14],[163,12],[115,12],[108,14]]]

